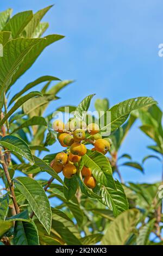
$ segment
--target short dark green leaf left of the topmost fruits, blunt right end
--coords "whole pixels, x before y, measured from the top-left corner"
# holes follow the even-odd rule
[[[23,129],[24,127],[28,127],[28,126],[33,126],[33,125],[43,125],[43,126],[47,126],[46,120],[43,117],[32,117],[30,119],[28,119],[27,121],[24,121],[24,123],[22,123],[20,126],[18,126],[14,131],[12,131],[12,133]]]

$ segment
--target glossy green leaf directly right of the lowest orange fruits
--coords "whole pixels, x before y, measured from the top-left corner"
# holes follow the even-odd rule
[[[87,150],[82,161],[87,168],[91,168],[92,175],[99,183],[116,189],[110,162],[102,153]]]

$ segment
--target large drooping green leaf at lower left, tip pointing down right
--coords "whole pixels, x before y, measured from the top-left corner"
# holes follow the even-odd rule
[[[52,212],[42,186],[36,180],[28,177],[15,179],[15,186],[26,197],[35,215],[49,234],[51,231]]]

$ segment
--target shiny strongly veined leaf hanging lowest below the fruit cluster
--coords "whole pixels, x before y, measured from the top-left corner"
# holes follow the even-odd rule
[[[103,185],[96,185],[93,189],[93,192],[97,193],[99,202],[108,206],[114,213],[114,216],[121,214],[121,212],[128,209],[128,200],[126,194],[124,193],[121,183],[116,180],[116,190],[113,190],[110,187],[105,187]]]

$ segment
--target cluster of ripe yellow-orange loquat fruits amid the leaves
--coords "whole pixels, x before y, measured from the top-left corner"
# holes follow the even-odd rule
[[[94,145],[93,151],[96,150],[103,154],[110,149],[109,141],[103,139],[98,133],[99,126],[97,124],[86,125],[84,121],[71,120],[65,125],[62,121],[56,120],[53,123],[53,129],[58,132],[57,138],[62,147],[68,149],[67,153],[61,152],[55,156],[51,167],[57,173],[62,171],[67,179],[71,179],[77,173],[77,163],[86,154],[87,149],[84,143],[90,142]],[[93,178],[90,168],[84,166],[82,176],[84,176],[84,183],[87,187],[94,188],[96,186],[96,180]]]

